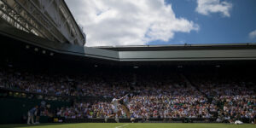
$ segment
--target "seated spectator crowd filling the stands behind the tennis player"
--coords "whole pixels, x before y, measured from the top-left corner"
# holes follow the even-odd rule
[[[234,79],[235,78],[235,79]],[[253,119],[256,114],[255,83],[234,76],[207,73],[87,73],[63,75],[0,69],[0,87],[55,96],[125,96],[134,118]],[[120,108],[121,117],[126,118]],[[217,113],[217,114],[215,114]],[[109,101],[77,101],[58,108],[67,119],[108,118]]]

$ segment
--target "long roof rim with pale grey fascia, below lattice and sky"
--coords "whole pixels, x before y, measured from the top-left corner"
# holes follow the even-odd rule
[[[60,44],[20,31],[0,20],[1,37],[13,38],[14,46],[20,44],[41,50],[49,50],[62,56],[73,55],[107,61],[245,61],[256,60],[255,44],[198,44],[168,46],[119,46],[83,47]],[[5,42],[1,42],[1,45]],[[9,43],[11,44],[11,43]],[[80,58],[80,59],[82,59]]]

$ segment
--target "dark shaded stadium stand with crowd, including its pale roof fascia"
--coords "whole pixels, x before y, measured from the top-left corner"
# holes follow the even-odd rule
[[[115,122],[111,101],[125,94],[135,122],[255,119],[255,44],[89,48],[3,19],[0,38],[0,124],[26,123],[37,105],[41,123]]]

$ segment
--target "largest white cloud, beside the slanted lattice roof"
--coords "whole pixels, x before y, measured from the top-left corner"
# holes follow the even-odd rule
[[[87,46],[141,45],[168,41],[175,32],[198,31],[191,20],[177,18],[164,0],[66,0],[84,27]]]

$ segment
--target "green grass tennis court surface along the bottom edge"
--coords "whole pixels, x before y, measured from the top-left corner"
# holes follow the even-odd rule
[[[0,128],[256,128],[256,125],[230,125],[209,123],[77,123],[39,125],[0,125]]]

